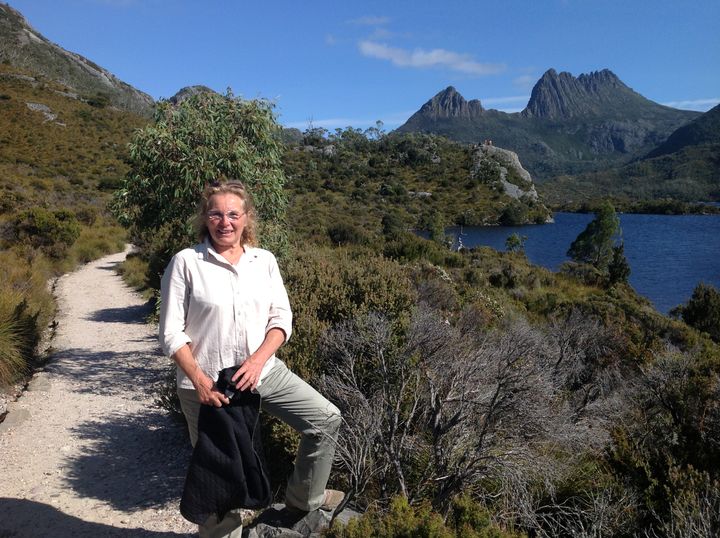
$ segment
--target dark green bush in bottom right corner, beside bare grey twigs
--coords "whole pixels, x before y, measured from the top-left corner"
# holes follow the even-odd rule
[[[624,420],[613,430],[609,461],[665,519],[697,473],[720,479],[720,353],[665,353],[644,372]]]

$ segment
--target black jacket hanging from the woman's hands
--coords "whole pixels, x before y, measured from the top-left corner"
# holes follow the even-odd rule
[[[183,517],[199,525],[234,508],[264,508],[272,501],[260,440],[260,395],[233,390],[237,366],[220,372],[217,386],[230,405],[200,406],[198,440],[180,501]]]

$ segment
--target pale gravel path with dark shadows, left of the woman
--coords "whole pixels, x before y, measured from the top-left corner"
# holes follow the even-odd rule
[[[0,424],[0,538],[177,537],[190,447],[154,405],[168,365],[125,253],[57,284],[53,360]]]

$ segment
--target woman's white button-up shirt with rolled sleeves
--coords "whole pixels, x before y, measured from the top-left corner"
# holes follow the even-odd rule
[[[275,256],[245,247],[236,265],[208,241],[178,252],[161,282],[160,343],[167,355],[190,344],[195,360],[210,379],[242,363],[272,328],[292,331],[290,301]],[[275,364],[265,363],[260,382]],[[178,387],[194,388],[178,368]]]

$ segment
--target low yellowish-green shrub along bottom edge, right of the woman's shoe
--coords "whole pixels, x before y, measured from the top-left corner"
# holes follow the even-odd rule
[[[410,506],[396,497],[386,513],[369,511],[347,525],[335,523],[332,538],[521,538],[490,521],[488,513],[470,498],[456,499],[447,521],[428,504]]]

